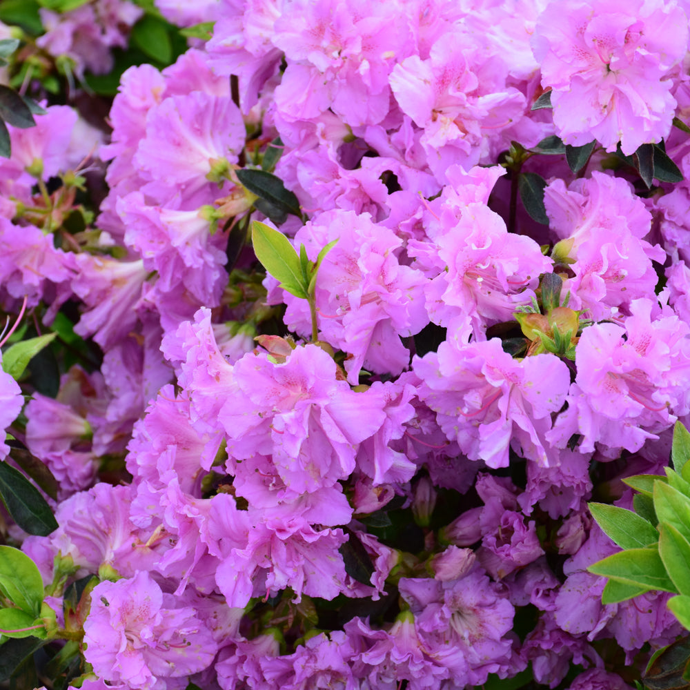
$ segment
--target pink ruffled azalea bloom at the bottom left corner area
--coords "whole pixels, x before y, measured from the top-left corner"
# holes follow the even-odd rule
[[[167,678],[203,671],[218,649],[195,610],[141,571],[94,588],[84,643],[98,676],[137,690],[165,690]]]

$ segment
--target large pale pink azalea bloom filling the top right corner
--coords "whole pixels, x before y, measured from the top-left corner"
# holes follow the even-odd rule
[[[671,130],[674,68],[688,49],[687,17],[674,1],[552,0],[533,37],[542,86],[566,144],[598,139],[625,155]]]

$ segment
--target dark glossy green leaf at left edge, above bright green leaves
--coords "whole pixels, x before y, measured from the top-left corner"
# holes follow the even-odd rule
[[[55,515],[39,490],[6,462],[0,462],[0,498],[23,531],[47,537],[57,529]]]

